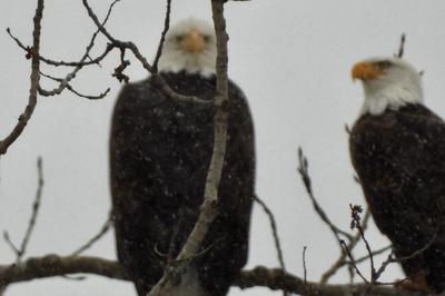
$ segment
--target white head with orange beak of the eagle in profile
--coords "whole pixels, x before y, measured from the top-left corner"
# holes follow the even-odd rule
[[[360,79],[365,91],[362,114],[380,115],[407,103],[423,102],[421,73],[400,58],[372,58],[354,65],[353,79]]]

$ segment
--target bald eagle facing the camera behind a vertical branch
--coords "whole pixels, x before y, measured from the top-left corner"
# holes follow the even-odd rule
[[[169,30],[159,71],[175,91],[212,100],[215,65],[212,27],[188,19]],[[125,86],[118,97],[110,139],[117,253],[139,295],[160,279],[198,218],[215,111],[175,100],[154,77]],[[253,120],[246,97],[229,81],[219,215],[172,295],[227,294],[247,260],[254,180]]]

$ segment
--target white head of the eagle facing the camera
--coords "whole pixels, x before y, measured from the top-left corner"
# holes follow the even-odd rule
[[[167,32],[158,65],[161,72],[216,72],[216,37],[211,26],[198,19],[178,22]]]

